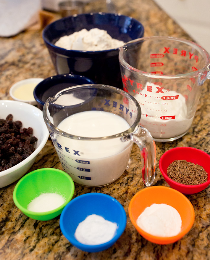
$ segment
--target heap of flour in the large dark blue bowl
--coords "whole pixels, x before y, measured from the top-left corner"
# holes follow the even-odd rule
[[[68,50],[102,51],[119,48],[123,41],[113,39],[107,31],[93,28],[90,31],[82,29],[79,32],[65,35],[56,41],[55,45]]]

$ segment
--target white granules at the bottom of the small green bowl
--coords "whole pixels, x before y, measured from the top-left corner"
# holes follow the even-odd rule
[[[64,198],[57,193],[42,193],[28,204],[27,209],[33,212],[47,212],[60,207],[64,202]]]

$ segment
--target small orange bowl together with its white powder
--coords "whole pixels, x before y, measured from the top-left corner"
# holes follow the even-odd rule
[[[140,235],[161,245],[181,239],[190,231],[195,219],[190,200],[181,192],[164,186],[137,192],[129,203],[128,214]],[[156,227],[151,222],[155,222]]]

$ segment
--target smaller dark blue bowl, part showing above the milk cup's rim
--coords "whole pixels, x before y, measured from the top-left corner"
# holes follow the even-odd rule
[[[73,74],[61,74],[46,78],[33,91],[37,107],[43,110],[44,103],[49,97],[53,97],[62,89],[83,84],[95,84],[95,82],[85,76]]]

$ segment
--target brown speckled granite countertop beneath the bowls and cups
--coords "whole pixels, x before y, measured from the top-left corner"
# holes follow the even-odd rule
[[[152,0],[115,0],[117,12],[140,20],[145,36],[160,35],[191,39]],[[105,1],[94,1],[87,12],[106,11]],[[55,75],[41,30],[27,30],[11,38],[0,39],[0,99],[11,99],[9,88],[25,78],[47,78]],[[210,82],[205,82],[198,109],[189,132],[174,142],[156,142],[156,179],[154,185],[168,186],[160,173],[161,155],[179,146],[190,146],[210,154]],[[30,168],[52,167],[62,169],[51,140]],[[195,222],[182,239],[169,245],[157,245],[144,239],[135,230],[128,216],[128,204],[133,195],[144,188],[141,176],[141,160],[134,144],[129,165],[114,183],[100,188],[88,188],[75,184],[74,197],[88,192],[102,192],[116,198],[125,208],[127,226],[125,232],[109,249],[98,253],[83,252],[62,235],[59,216],[50,221],[37,221],[25,216],[14,204],[12,193],[17,182],[0,189],[0,259],[78,259],[78,260],[135,260],[135,259],[210,259],[210,187],[194,195],[188,195],[195,210]]]

